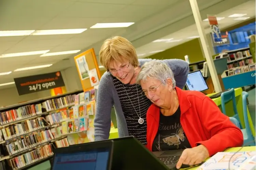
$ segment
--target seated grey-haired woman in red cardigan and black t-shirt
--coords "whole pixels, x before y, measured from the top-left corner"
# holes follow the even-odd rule
[[[148,108],[147,148],[150,151],[185,149],[176,165],[196,165],[229,147],[241,147],[243,134],[218,106],[199,91],[175,87],[164,63],[145,63],[137,77]],[[187,148],[187,149],[186,149]]]

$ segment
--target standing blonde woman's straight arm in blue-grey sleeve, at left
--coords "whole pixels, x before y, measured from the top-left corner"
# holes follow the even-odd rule
[[[95,141],[109,139],[111,109],[113,107],[112,84],[108,72],[105,72],[97,90],[96,114],[94,119]]]

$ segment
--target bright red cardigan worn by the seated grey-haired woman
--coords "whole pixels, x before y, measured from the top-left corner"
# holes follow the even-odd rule
[[[207,96],[198,91],[175,88],[181,109],[181,126],[191,147],[204,145],[210,156],[229,147],[243,145],[243,134],[229,117]],[[147,148],[152,151],[160,117],[160,107],[152,104],[147,110]]]

